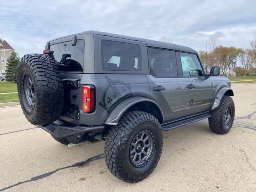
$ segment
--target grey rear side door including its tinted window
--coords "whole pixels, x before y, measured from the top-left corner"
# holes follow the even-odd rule
[[[184,82],[177,68],[176,52],[148,48],[151,74],[147,75],[151,99],[163,110],[164,121],[183,116]]]

